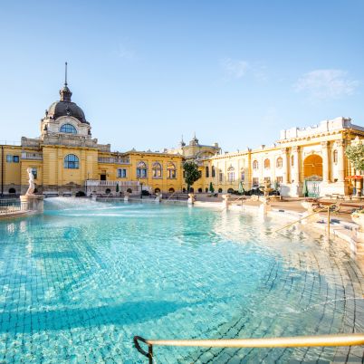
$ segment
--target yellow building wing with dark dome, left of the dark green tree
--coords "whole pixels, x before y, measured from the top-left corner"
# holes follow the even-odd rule
[[[24,194],[27,168],[32,168],[37,193],[117,194],[140,191],[174,192],[184,188],[183,160],[166,152],[111,152],[91,137],[91,125],[72,102],[67,82],[61,100],[41,120],[41,136],[22,138],[19,146],[1,146],[1,194]]]

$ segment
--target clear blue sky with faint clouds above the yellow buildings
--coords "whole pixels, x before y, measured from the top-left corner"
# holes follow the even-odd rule
[[[37,137],[69,86],[92,136],[234,151],[279,130],[364,124],[362,1],[14,1],[1,6],[0,139]]]

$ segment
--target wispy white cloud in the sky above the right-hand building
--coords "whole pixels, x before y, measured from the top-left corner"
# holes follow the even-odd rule
[[[311,99],[340,99],[351,95],[359,81],[351,80],[342,70],[315,70],[302,75],[294,85],[297,92],[306,92]]]

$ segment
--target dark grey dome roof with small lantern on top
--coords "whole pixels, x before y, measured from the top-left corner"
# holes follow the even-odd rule
[[[71,101],[72,91],[67,86],[67,80],[64,82],[64,86],[60,90],[61,100],[55,101],[49,107],[46,112],[46,116],[50,119],[58,119],[61,116],[72,116],[81,122],[90,124],[86,121],[85,114],[80,106],[77,106],[75,102]]]

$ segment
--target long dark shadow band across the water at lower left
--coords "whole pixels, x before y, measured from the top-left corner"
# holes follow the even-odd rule
[[[100,325],[122,326],[157,320],[186,306],[187,304],[176,302],[148,301],[49,311],[5,311],[0,314],[0,332],[87,329]]]

